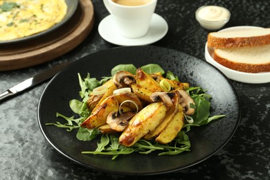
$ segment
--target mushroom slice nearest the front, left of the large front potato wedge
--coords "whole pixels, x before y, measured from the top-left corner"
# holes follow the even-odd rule
[[[107,116],[107,124],[116,132],[123,132],[125,127],[127,127],[129,120],[131,120],[135,114],[136,113],[133,111],[128,111],[124,114],[118,114],[118,112],[115,111],[111,112]]]

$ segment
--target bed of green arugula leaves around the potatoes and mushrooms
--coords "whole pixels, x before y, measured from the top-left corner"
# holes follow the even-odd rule
[[[165,71],[157,64],[147,64],[142,66],[141,69],[146,73],[162,73]],[[129,71],[130,73],[136,73],[136,67],[133,64],[119,64],[111,70],[111,75],[114,75],[118,71]],[[165,77],[170,80],[177,80],[178,78],[171,71],[165,74]],[[159,152],[159,156],[162,155],[175,155],[182,152],[190,151],[190,141],[187,132],[190,131],[191,127],[197,127],[201,125],[206,125],[213,120],[224,117],[224,115],[212,116],[210,117],[210,98],[211,96],[206,93],[206,90],[201,89],[201,87],[190,87],[186,89],[188,94],[193,100],[195,100],[195,114],[188,116],[187,122],[183,125],[183,128],[170,144],[161,145],[156,143],[156,141],[145,141],[139,140],[132,147],[125,147],[118,143],[118,135],[105,135],[101,134],[98,129],[86,129],[80,127],[80,124],[90,115],[89,109],[87,109],[87,100],[89,98],[89,93],[100,85],[107,82],[111,77],[104,77],[102,80],[98,81],[96,78],[91,78],[90,74],[87,74],[87,78],[82,78],[78,73],[78,80],[80,84],[80,97],[82,100],[71,100],[69,106],[71,110],[78,114],[78,118],[72,116],[71,118],[66,117],[62,114],[57,113],[57,117],[64,118],[67,123],[61,124],[48,123],[46,125],[55,125],[56,127],[65,128],[68,132],[73,129],[78,129],[76,137],[80,141],[91,141],[94,138],[100,137],[100,142],[97,144],[97,148],[94,151],[84,151],[82,154],[105,154],[112,156],[112,159],[116,159],[120,154],[132,154],[133,152],[138,152],[140,154],[150,154],[151,152]],[[190,120],[190,121],[189,121]],[[188,123],[189,121],[189,123]],[[190,123],[192,122],[192,123]],[[101,135],[100,135],[101,134]]]

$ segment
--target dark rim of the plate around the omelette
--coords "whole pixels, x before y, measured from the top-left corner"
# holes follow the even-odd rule
[[[66,0],[66,6],[68,7],[67,12],[66,12],[66,16],[62,19],[62,21],[60,21],[60,23],[55,24],[51,28],[49,28],[47,30],[44,30],[44,31],[42,31],[40,33],[36,33],[34,35],[30,35],[30,36],[27,36],[27,37],[21,37],[19,39],[12,39],[12,40],[8,40],[8,41],[0,41],[0,45],[2,45],[2,44],[14,44],[14,43],[18,43],[18,42],[26,42],[28,40],[35,39],[37,37],[41,37],[43,35],[51,33],[53,30],[56,30],[57,28],[59,28],[60,26],[65,24],[66,21],[69,21],[69,19],[72,17],[75,10],[77,9],[78,0]]]

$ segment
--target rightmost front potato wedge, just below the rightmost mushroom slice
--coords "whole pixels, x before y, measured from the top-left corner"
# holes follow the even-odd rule
[[[181,131],[183,127],[183,109],[181,105],[179,105],[179,111],[177,114],[172,118],[172,121],[168,124],[168,126],[163,129],[161,134],[156,137],[155,141],[161,144],[167,144],[170,143],[177,134]]]

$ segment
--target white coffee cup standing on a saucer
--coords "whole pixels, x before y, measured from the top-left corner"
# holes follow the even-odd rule
[[[115,1],[103,0],[105,7],[113,16],[118,33],[127,38],[138,38],[146,35],[157,0],[149,0],[149,2],[139,6],[122,5]]]

